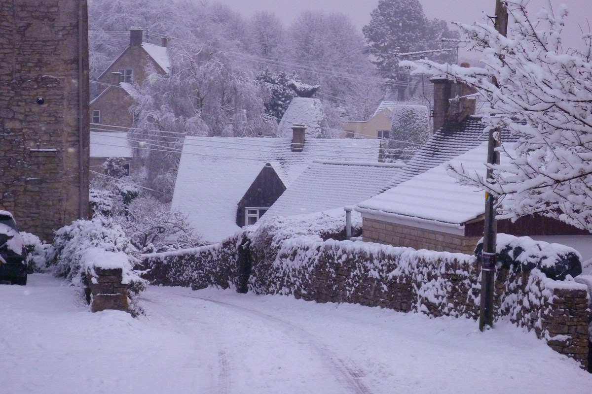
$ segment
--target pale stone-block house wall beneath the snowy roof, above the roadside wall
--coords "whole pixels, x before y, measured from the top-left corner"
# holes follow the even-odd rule
[[[385,243],[393,246],[407,246],[414,249],[429,249],[437,252],[466,253],[472,255],[481,237],[465,237],[442,233],[435,230],[419,229],[382,222],[375,219],[362,219],[363,240]]]

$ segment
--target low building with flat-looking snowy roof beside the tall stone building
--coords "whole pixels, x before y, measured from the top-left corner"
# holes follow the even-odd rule
[[[105,160],[115,157],[125,160],[124,168],[129,175],[132,169],[133,151],[127,143],[127,133],[91,131],[91,179],[96,176],[96,172],[104,172],[101,166]]]

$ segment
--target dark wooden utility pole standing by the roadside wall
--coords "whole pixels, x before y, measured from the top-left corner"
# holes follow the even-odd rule
[[[496,0],[496,30],[503,35],[508,31],[508,12],[506,4],[502,0]],[[494,78],[497,86],[497,80]],[[499,152],[496,152],[497,141],[494,134],[498,130],[491,129],[487,147],[487,163],[498,164]],[[493,174],[487,169],[487,180],[490,181]],[[481,253],[481,305],[479,311],[479,329],[484,330],[485,325],[493,325],[493,293],[496,279],[496,209],[494,203],[496,196],[485,193],[485,225],[483,230],[483,250]]]

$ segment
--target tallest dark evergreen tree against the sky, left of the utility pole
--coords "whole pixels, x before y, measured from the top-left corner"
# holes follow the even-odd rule
[[[407,70],[398,66],[400,53],[443,49],[441,38],[456,38],[445,21],[427,19],[419,0],[379,0],[371,14],[371,21],[362,28],[369,53],[382,77],[397,90],[398,99],[410,84]],[[437,61],[452,61],[451,51],[434,53]]]

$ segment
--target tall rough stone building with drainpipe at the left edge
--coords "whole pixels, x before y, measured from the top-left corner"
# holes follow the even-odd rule
[[[0,2],[0,209],[44,240],[88,217],[86,0]]]

